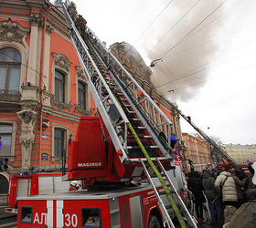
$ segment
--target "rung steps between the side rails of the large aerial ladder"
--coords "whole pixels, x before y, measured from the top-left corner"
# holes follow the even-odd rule
[[[133,134],[133,130],[130,127],[126,132],[124,130],[124,124],[117,127],[118,137],[126,145],[128,159],[134,161],[134,159],[144,157],[144,152],[141,150],[141,146],[138,145],[135,135],[140,139],[150,157],[170,158],[170,147],[167,145],[166,140],[159,135],[158,131],[151,124],[148,124],[144,110],[134,102],[131,94],[129,96],[130,87],[123,85],[123,82],[115,77],[112,73],[112,67],[106,66],[104,60],[98,54],[96,47],[93,45],[95,42],[94,39],[91,40],[90,34],[85,36],[84,41],[92,59],[97,67],[99,67],[101,75],[105,78],[109,88],[112,90],[112,94],[118,100],[120,107],[122,107],[125,116],[129,120],[128,126],[131,124],[135,132]],[[94,79],[94,81],[96,80]],[[111,107],[109,114],[112,122],[116,124],[119,121],[119,115],[115,113],[113,107]]]

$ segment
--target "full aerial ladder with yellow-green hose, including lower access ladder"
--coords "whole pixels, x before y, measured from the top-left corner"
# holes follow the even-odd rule
[[[175,158],[170,147],[171,120],[91,29],[86,27],[82,38],[65,5],[63,12],[95,106],[111,136],[118,158],[125,170],[131,170],[131,165],[132,169],[136,169],[129,178],[144,175],[153,185],[165,227],[175,227],[168,207],[175,212],[181,227],[186,227],[184,218],[190,226],[197,227],[197,222],[187,211],[165,172],[166,164]],[[143,95],[143,98],[137,94]],[[153,113],[159,117],[159,122],[155,122]],[[161,200],[163,192],[157,192],[150,173],[155,173],[161,182],[167,203]]]

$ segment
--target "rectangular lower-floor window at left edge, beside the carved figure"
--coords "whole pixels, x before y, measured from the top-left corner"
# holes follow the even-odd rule
[[[3,147],[1,150],[2,156],[11,155],[11,145],[12,145],[12,124],[0,124],[0,137],[3,141]]]

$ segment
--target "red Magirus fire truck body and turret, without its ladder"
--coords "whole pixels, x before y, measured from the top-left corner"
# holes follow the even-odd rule
[[[118,178],[118,169],[115,169],[112,158],[115,150],[112,140],[106,146],[108,139],[108,131],[99,117],[81,117],[77,138],[69,143],[70,172],[66,178],[75,180],[86,176],[84,186],[88,189],[18,197],[17,227],[161,227],[168,222],[159,201],[165,203],[166,211],[174,218],[176,213],[161,185],[133,183],[144,179],[142,173],[147,172],[143,168],[144,161],[135,167],[128,164],[130,169],[125,170],[130,170],[129,173],[124,174],[123,170],[123,178],[127,181]],[[88,150],[88,154],[82,153],[84,150]],[[94,151],[92,155],[91,150]],[[170,168],[176,168],[166,175],[173,180],[169,184],[173,184],[172,190],[175,191],[183,184],[179,161],[170,163]],[[132,182],[128,178],[134,176],[131,170],[140,173]],[[178,194],[176,197],[182,202]]]

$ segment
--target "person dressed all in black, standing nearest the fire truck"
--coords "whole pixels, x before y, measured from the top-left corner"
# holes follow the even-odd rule
[[[197,171],[190,171],[187,179],[187,188],[193,193],[194,203],[196,206],[197,218],[201,221],[204,220],[203,216],[203,202],[206,202],[203,185]]]

